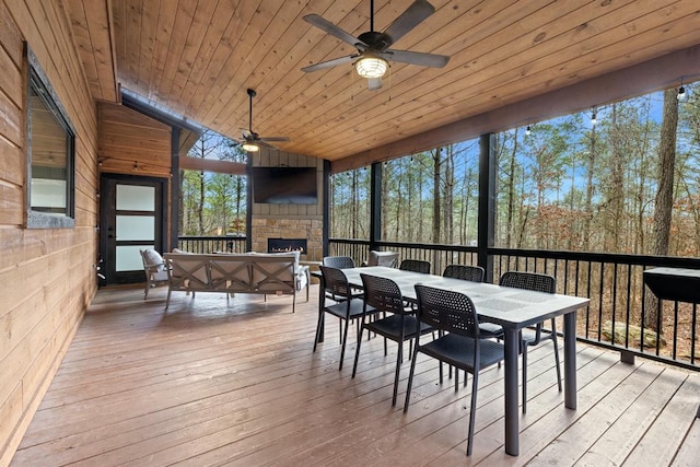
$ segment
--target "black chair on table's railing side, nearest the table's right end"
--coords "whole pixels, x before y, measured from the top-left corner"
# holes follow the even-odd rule
[[[508,271],[501,276],[500,285],[516,289],[532,290],[536,292],[555,293],[557,281],[553,277],[537,272]],[[542,340],[551,340],[555,347],[555,363],[557,365],[557,385],[561,393],[561,370],[559,367],[559,343],[557,341],[557,322],[550,320],[551,329],[542,332],[542,323],[538,323],[535,329],[523,329],[521,332],[521,353],[523,353],[523,413],[527,410],[527,348],[538,346]]]

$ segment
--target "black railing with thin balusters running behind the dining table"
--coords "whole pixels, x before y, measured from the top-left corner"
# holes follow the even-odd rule
[[[243,238],[243,244],[245,245],[245,238]],[[369,255],[368,241],[332,238],[329,244],[331,254],[351,256],[357,264],[362,262]],[[182,241],[180,245],[184,245]],[[448,264],[477,264],[477,248],[471,246],[399,242],[380,242],[378,246],[382,249],[399,252],[401,258],[432,258],[433,272],[436,275],[442,273]],[[639,341],[632,341],[629,332],[629,326],[632,324],[639,325],[642,331],[646,326],[644,306],[648,301],[648,291],[643,282],[644,269],[658,266],[700,269],[700,259],[510,248],[489,248],[489,254],[493,256],[494,281],[498,281],[500,275],[506,270],[553,272],[560,283],[558,289],[563,293],[574,295],[583,293],[584,296],[588,296],[591,305],[579,312],[579,332],[582,334],[579,336],[580,339],[596,346],[623,349],[644,358],[700,370],[696,358],[696,346],[700,332],[698,330],[697,305],[687,305],[686,307],[686,305],[676,304],[673,323],[664,325],[667,332],[670,335],[673,331],[674,335],[673,346],[665,349],[661,349],[657,343],[655,352],[646,351],[643,347],[643,335]],[[608,283],[606,283],[606,270],[610,271],[607,275],[610,276]],[[627,275],[626,279],[625,275]],[[689,311],[690,307],[692,307],[692,316],[686,318],[685,311]],[[670,316],[670,307],[668,307],[667,316]],[[658,328],[662,329],[662,313],[658,313]],[[680,320],[681,317],[684,322]],[[607,319],[612,326],[621,320],[625,322],[628,330],[625,334],[623,343],[615,342],[614,337],[611,339],[603,338],[603,322]],[[596,320],[597,323],[595,323]],[[692,323],[689,324],[689,322]],[[688,329],[688,326],[691,329]],[[592,332],[596,332],[596,327],[597,335],[592,336]],[[690,348],[689,352],[685,352],[686,346]]]

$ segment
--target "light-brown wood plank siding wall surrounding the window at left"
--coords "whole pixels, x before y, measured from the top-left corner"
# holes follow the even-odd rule
[[[75,227],[27,230],[23,42],[75,130]],[[8,465],[94,297],[97,115],[58,1],[0,0],[0,465]]]

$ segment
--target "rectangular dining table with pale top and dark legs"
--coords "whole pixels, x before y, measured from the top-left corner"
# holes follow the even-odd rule
[[[442,276],[423,275],[382,266],[342,270],[351,287],[361,289],[361,273],[394,280],[404,299],[416,302],[417,283],[465,293],[474,302],[481,322],[503,327],[505,359],[505,453],[520,454],[518,354],[521,329],[546,319],[563,316],[564,326],[564,406],[576,409],[576,311],[588,306],[588,299],[534,292],[523,289],[470,282]],[[322,296],[323,299],[323,296]]]

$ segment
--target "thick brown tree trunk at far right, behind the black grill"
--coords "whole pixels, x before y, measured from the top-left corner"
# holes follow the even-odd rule
[[[653,252],[652,255],[668,255],[670,236],[670,213],[674,201],[674,168],[676,163],[676,130],[678,128],[678,101],[676,90],[664,92],[664,119],[661,124],[658,144],[658,188],[654,201]],[[644,305],[644,327],[662,334],[658,328],[658,300],[653,293],[646,294]]]

